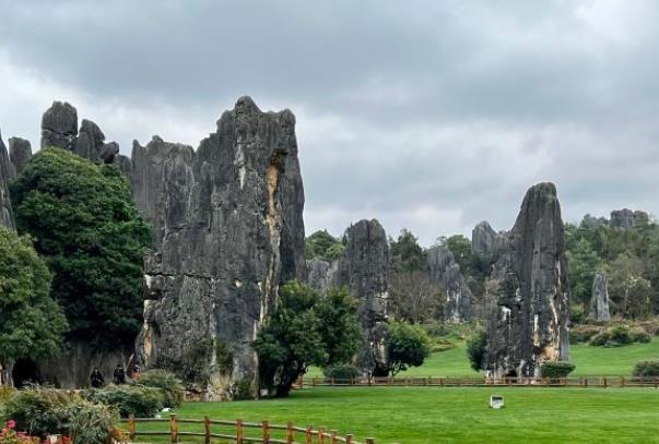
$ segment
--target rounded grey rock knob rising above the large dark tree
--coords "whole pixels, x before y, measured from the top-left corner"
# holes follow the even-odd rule
[[[57,146],[74,151],[78,111],[68,103],[54,101],[42,118],[42,148]]]

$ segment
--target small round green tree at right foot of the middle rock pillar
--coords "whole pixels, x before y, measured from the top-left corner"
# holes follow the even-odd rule
[[[387,370],[396,376],[410,367],[420,367],[431,353],[431,339],[419,325],[393,321],[385,338]]]

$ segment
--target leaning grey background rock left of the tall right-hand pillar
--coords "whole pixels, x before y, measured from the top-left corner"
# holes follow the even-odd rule
[[[444,320],[469,321],[472,295],[454,254],[446,247],[434,247],[427,252],[427,265],[431,281],[442,286],[446,292]]]

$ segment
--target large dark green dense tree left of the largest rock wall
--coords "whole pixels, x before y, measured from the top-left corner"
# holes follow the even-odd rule
[[[113,165],[45,148],[11,187],[16,225],[54,275],[71,339],[131,345],[142,313],[142,257],[151,243],[128,182]]]

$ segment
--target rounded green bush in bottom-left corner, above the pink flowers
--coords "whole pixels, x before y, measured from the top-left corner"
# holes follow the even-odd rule
[[[35,436],[64,433],[67,407],[72,395],[52,387],[27,386],[16,391],[2,408],[4,419],[16,421],[16,429]]]

